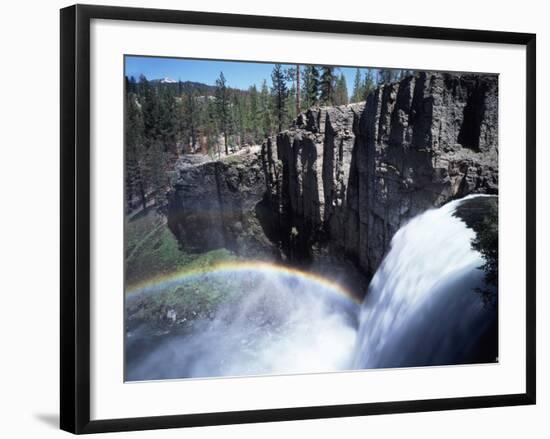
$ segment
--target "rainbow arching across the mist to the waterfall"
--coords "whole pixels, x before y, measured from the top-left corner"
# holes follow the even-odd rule
[[[185,281],[196,280],[197,278],[209,274],[218,275],[234,273],[275,274],[289,279],[305,280],[323,288],[324,290],[345,296],[356,304],[360,303],[360,299],[351,291],[338,282],[321,276],[320,274],[299,270],[286,265],[254,260],[219,262],[208,267],[184,269],[168,275],[157,276],[126,287],[126,294],[132,295],[137,293],[154,292]]]

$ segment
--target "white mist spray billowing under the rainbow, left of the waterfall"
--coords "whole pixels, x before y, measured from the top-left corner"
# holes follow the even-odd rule
[[[132,362],[127,379],[329,372],[351,364],[359,311],[351,298],[281,272],[221,273],[228,275],[244,290],[212,319],[195,322],[191,334],[168,337]]]

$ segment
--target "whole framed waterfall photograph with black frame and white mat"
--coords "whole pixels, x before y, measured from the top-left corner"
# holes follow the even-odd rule
[[[535,35],[61,10],[61,428],[535,403]]]

